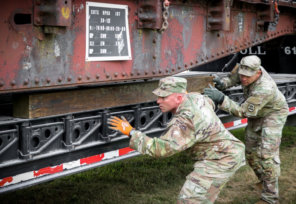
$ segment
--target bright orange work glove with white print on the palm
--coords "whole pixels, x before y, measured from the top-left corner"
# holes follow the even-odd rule
[[[107,124],[111,125],[108,126],[109,129],[115,130],[118,133],[125,134],[127,136],[130,136],[129,133],[132,129],[134,129],[126,119],[121,116],[121,119],[115,116],[111,116],[110,118],[107,119]]]

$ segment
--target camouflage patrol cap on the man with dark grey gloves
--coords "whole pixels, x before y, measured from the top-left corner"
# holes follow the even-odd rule
[[[239,74],[253,76],[260,69],[261,60],[256,55],[243,57],[240,62]]]

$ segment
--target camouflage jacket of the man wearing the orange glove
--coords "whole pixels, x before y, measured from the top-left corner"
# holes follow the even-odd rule
[[[186,153],[205,167],[226,172],[245,164],[244,144],[225,129],[214,112],[213,101],[200,93],[188,93],[160,138],[136,131],[130,148],[152,157]]]

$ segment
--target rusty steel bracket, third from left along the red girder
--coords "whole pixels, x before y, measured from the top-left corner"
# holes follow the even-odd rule
[[[207,31],[229,31],[232,2],[233,0],[214,0],[207,4]]]

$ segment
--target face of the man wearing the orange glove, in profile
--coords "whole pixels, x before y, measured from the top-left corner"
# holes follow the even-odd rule
[[[178,99],[176,93],[166,97],[158,97],[157,103],[159,104],[159,108],[163,113],[171,111],[175,114],[178,108]]]

